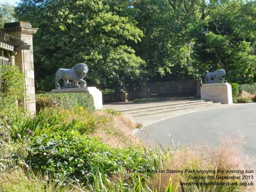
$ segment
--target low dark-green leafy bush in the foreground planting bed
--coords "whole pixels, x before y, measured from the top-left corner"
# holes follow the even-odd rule
[[[125,168],[146,169],[150,166],[140,148],[112,148],[77,131],[60,131],[36,137],[27,163],[34,169],[54,174],[55,179],[73,182],[93,180],[95,164],[101,174],[113,174]]]

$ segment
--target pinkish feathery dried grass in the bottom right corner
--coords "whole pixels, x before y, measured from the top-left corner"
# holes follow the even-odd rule
[[[243,151],[242,144],[244,137],[241,134],[236,134],[236,137],[222,135],[220,136],[220,141],[221,144],[217,147],[198,144],[193,147],[178,148],[174,152],[168,152],[161,161],[161,169],[253,170],[254,162]],[[254,173],[252,175],[255,178],[256,174]],[[165,191],[170,178],[172,178],[172,183],[177,185],[180,181],[187,181],[187,176],[185,174],[167,174],[166,172],[164,174],[156,174],[153,179],[148,181],[147,185],[156,191]],[[216,180],[216,182],[220,181]],[[236,191],[245,192],[256,190],[254,186],[239,187],[241,190]],[[212,191],[211,189],[204,188],[196,191]],[[179,186],[178,191],[182,191],[181,186]]]

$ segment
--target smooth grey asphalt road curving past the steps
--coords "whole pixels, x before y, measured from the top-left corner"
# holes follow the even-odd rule
[[[229,108],[201,111],[158,121],[142,127],[134,133],[146,144],[194,143],[211,146],[220,143],[220,135],[237,139],[245,137],[243,144],[247,154],[256,156],[256,103]]]

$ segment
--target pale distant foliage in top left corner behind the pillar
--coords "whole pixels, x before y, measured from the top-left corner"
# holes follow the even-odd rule
[[[5,23],[15,22],[14,6],[8,3],[0,3],[0,28],[4,28]]]

